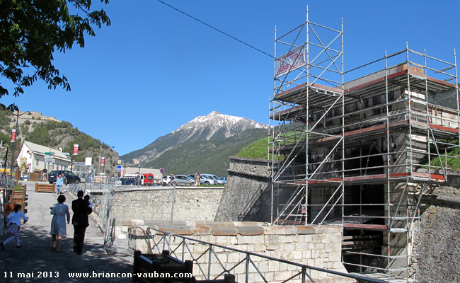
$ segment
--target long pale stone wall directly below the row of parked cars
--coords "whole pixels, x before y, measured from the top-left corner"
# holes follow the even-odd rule
[[[212,221],[223,187],[176,187],[173,219]],[[173,190],[149,188],[115,190],[111,216],[142,224],[145,220],[171,219]]]

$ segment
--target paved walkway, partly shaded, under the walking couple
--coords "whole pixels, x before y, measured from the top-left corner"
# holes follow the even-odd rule
[[[22,248],[16,248],[13,240],[6,244],[6,250],[0,249],[0,282],[132,282],[132,278],[126,277],[127,273],[132,272],[132,263],[113,255],[97,255],[97,251],[103,249],[104,236],[91,217],[81,255],[72,253],[74,228],[71,224],[67,225],[67,236],[62,240],[61,253],[53,252],[50,207],[57,203],[58,195],[35,192],[33,182],[20,183],[27,184],[25,216],[29,217],[29,221],[21,225],[19,241]],[[69,206],[72,216],[73,199],[67,193],[66,198],[64,204]],[[0,241],[6,238],[2,233]],[[87,273],[88,277],[83,278],[83,274],[79,278],[69,277],[69,274],[77,273]],[[96,273],[99,275],[94,278]],[[112,278],[117,275],[125,278]]]

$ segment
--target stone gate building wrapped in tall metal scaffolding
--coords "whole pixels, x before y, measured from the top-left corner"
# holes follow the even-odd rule
[[[307,16],[275,38],[272,225],[343,226],[349,272],[410,281],[420,199],[447,181],[458,147],[455,54],[449,63],[406,45],[345,72],[343,28]]]

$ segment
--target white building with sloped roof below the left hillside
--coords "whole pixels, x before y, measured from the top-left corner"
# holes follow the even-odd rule
[[[45,152],[54,153],[54,163],[45,163]],[[70,170],[71,165],[70,158],[59,149],[40,146],[40,144],[34,144],[30,141],[23,142],[16,162],[19,167],[26,163],[29,168],[28,171],[36,173],[41,172],[43,168],[47,168],[47,171]]]

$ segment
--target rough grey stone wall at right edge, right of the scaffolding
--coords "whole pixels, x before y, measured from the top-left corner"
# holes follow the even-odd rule
[[[415,282],[460,282],[460,175],[438,185],[420,205],[412,265]]]

